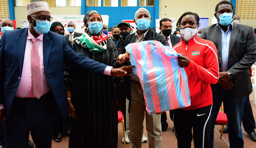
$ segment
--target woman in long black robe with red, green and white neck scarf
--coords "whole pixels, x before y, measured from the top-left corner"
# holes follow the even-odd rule
[[[121,67],[114,42],[102,29],[96,11],[85,14],[86,32],[74,39],[71,48],[90,59],[114,68]],[[117,99],[112,76],[99,77],[86,71],[64,70],[72,125],[69,148],[117,147]],[[71,95],[72,94],[72,95]]]

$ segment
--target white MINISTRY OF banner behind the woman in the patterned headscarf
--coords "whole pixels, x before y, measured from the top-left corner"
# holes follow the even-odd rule
[[[65,30],[65,34],[68,33],[67,30],[67,24],[69,22],[73,22],[75,24],[75,32],[84,33],[85,25],[84,25],[84,15],[51,15],[53,17],[53,20],[51,21],[54,23],[55,21],[60,22]],[[109,25],[109,16],[108,15],[101,15],[103,24]]]

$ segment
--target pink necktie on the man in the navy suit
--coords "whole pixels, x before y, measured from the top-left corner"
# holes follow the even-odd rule
[[[39,99],[43,95],[42,77],[40,68],[40,58],[38,53],[37,41],[39,39],[31,39],[33,42],[31,50],[31,71],[32,71],[32,86],[34,97]]]

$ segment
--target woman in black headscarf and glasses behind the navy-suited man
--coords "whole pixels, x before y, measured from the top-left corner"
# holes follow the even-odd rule
[[[58,33],[60,35],[64,35],[65,33],[64,27],[62,26],[62,24],[57,21],[51,25],[50,31]],[[66,41],[68,45],[71,46],[71,41],[69,40],[66,40]],[[61,142],[61,134],[69,136],[70,128],[71,128],[70,116],[68,115],[66,117],[63,117],[60,112],[60,109],[58,108],[55,119],[54,119],[54,123],[53,123],[53,134],[52,134],[55,142]]]

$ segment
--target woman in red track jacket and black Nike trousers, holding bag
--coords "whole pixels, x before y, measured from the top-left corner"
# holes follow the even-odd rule
[[[188,76],[191,106],[175,109],[174,132],[179,148],[190,148],[194,137],[195,148],[208,148],[211,123],[212,90],[210,84],[218,82],[217,50],[213,42],[197,35],[199,16],[186,12],[177,21],[183,37],[173,49],[179,56],[178,64]],[[193,137],[192,137],[193,127]]]

